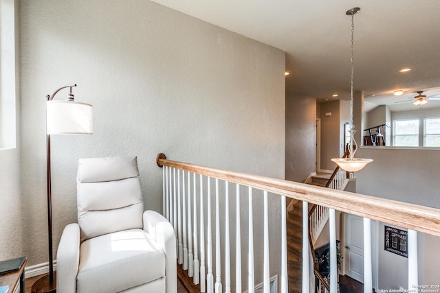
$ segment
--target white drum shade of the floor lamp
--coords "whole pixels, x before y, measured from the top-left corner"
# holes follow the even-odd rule
[[[75,101],[47,101],[47,134],[93,134],[92,109]]]

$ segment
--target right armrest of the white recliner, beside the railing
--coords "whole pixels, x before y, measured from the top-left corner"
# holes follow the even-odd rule
[[[177,292],[176,236],[173,226],[155,211],[144,211],[144,231],[162,244],[166,256],[166,292]]]

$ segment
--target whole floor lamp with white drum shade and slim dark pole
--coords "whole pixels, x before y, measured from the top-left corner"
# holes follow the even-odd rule
[[[72,87],[63,86],[52,95],[47,95],[46,107],[46,148],[47,148],[47,234],[49,238],[49,274],[38,279],[32,285],[32,293],[56,292],[54,280],[54,259],[52,252],[52,189],[50,172],[50,135],[51,134],[92,134],[93,119],[90,104],[75,102]],[[53,101],[58,91],[70,89],[65,101]]]

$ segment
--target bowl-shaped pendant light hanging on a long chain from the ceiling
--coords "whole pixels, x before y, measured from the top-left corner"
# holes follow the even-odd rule
[[[353,72],[354,72],[354,63],[353,63],[353,56],[355,52],[354,47],[354,37],[355,37],[355,18],[354,15],[356,12],[358,12],[360,8],[355,7],[351,10],[348,10],[346,12],[347,15],[351,15],[351,100],[350,100],[350,117],[351,117],[351,124],[350,124],[350,142],[349,145],[347,145],[347,149],[349,150],[350,156],[348,158],[338,158],[338,159],[331,159],[331,161],[338,164],[338,166],[342,169],[344,169],[347,172],[357,172],[360,169],[364,168],[366,164],[372,162],[372,159],[355,159],[355,152],[358,149],[358,144],[355,141],[354,134],[356,132],[355,126],[353,124]]]

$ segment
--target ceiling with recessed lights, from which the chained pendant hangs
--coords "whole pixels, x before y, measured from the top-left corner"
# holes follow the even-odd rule
[[[335,99],[333,93],[349,99],[351,16],[345,12],[360,7],[355,14],[355,91],[364,91],[374,104],[395,104],[420,90],[440,94],[435,89],[440,87],[438,0],[153,1],[283,49],[291,72],[286,91],[329,100]],[[412,71],[399,73],[404,67]],[[397,89],[404,95],[393,96]]]

